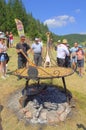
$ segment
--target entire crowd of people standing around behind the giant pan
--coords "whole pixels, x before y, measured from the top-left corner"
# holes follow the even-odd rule
[[[9,61],[7,49],[13,47],[13,34],[6,32],[0,34],[0,73],[1,78],[6,79],[6,65]],[[77,42],[70,48],[67,39],[58,40],[56,48],[56,63],[59,67],[71,67],[74,71],[78,70],[80,77],[84,73],[84,50]],[[24,35],[20,36],[20,41],[16,44],[16,52],[18,55],[18,69],[28,67],[27,57],[30,52],[33,54],[34,64],[42,66],[43,59],[43,42],[41,38],[35,38],[30,46],[26,42]],[[26,57],[25,57],[26,56]]]

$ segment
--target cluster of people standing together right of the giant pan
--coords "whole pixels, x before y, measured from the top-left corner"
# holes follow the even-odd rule
[[[84,74],[84,57],[85,52],[83,47],[77,42],[74,46],[70,48],[67,39],[57,44],[57,64],[60,67],[71,67],[76,71],[78,69],[78,74],[80,77]]]

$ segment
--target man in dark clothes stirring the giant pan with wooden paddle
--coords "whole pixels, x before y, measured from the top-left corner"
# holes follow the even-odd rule
[[[18,54],[18,69],[26,67],[27,59],[22,54],[22,52],[25,53],[27,56],[27,52],[30,49],[30,46],[25,42],[25,36],[20,37],[20,42],[16,45],[16,51]]]

